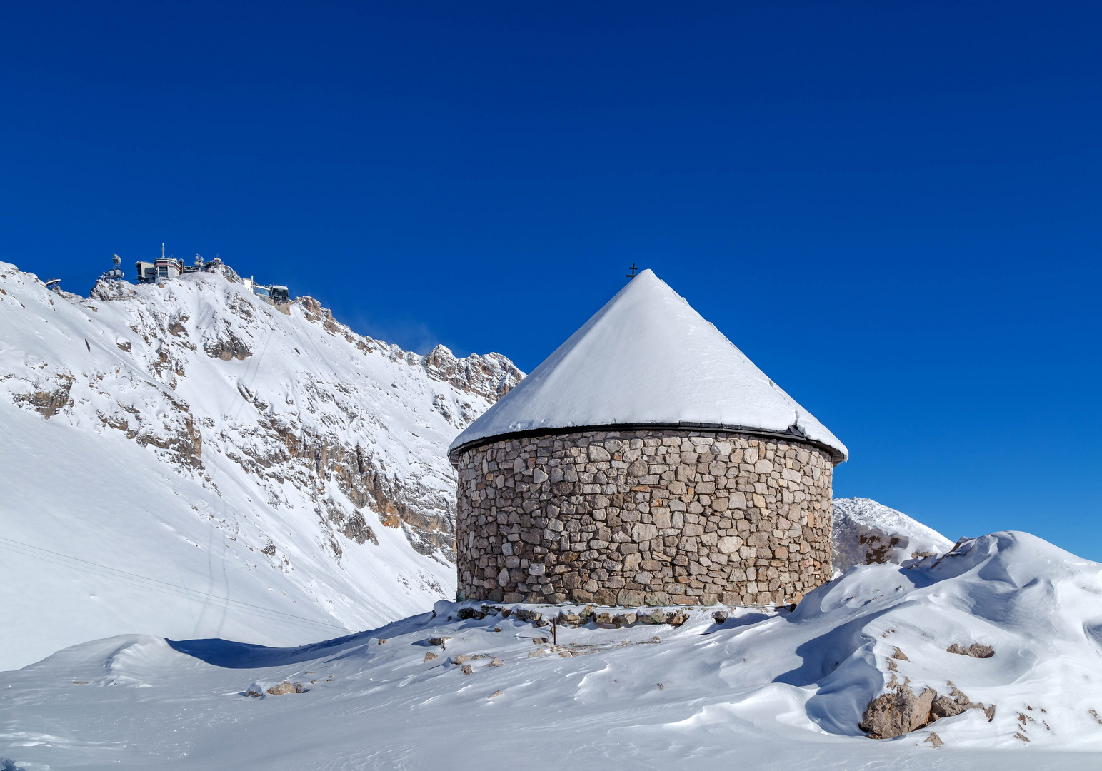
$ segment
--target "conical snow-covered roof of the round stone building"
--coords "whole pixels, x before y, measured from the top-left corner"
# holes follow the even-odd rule
[[[849,450],[684,297],[645,270],[449,447],[593,427],[731,428]]]

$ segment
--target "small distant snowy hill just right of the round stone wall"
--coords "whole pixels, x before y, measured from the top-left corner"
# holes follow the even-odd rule
[[[944,554],[953,542],[944,535],[868,498],[834,499],[834,575],[854,565],[903,563]]]

